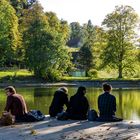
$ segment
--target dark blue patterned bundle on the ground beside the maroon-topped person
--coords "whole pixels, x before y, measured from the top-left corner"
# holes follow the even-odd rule
[[[45,115],[40,110],[30,110],[27,113],[28,121],[42,121]]]

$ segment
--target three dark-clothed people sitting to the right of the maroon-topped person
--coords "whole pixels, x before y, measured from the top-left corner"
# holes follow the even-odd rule
[[[112,86],[105,83],[103,84],[103,94],[98,97],[99,115],[95,116],[96,121],[122,121],[121,118],[115,117],[116,112],[116,98],[111,95]],[[68,89],[66,87],[59,88],[53,97],[49,114],[51,117],[58,119],[73,119],[73,120],[86,120],[88,119],[89,103],[85,96],[86,88],[80,86],[75,95],[71,96],[68,101]],[[67,109],[64,112],[64,105]],[[97,113],[96,113],[97,114]],[[96,117],[96,118],[95,118]]]

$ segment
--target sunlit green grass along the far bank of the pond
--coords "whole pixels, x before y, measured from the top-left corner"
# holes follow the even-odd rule
[[[140,80],[140,78],[113,78],[114,75],[112,75],[112,73],[109,74],[105,74],[105,73],[101,73],[101,75],[98,78],[91,78],[91,77],[68,77],[68,76],[64,76],[62,77],[62,81],[137,81]],[[3,70],[0,71],[0,82],[1,83],[6,83],[6,82],[26,82],[26,83],[32,83],[32,82],[47,82],[41,79],[37,79],[34,77],[33,72],[30,72],[26,69],[11,69],[11,70]]]

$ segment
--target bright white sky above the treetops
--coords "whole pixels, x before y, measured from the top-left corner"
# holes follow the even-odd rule
[[[71,22],[87,23],[101,26],[105,16],[111,13],[116,5],[129,5],[140,16],[140,0],[39,0],[44,11],[52,11],[59,19]]]

